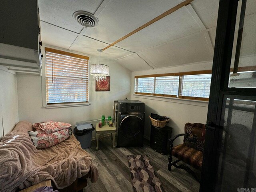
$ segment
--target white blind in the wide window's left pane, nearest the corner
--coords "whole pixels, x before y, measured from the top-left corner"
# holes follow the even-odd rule
[[[154,93],[154,77],[136,78],[135,92],[138,93]]]

